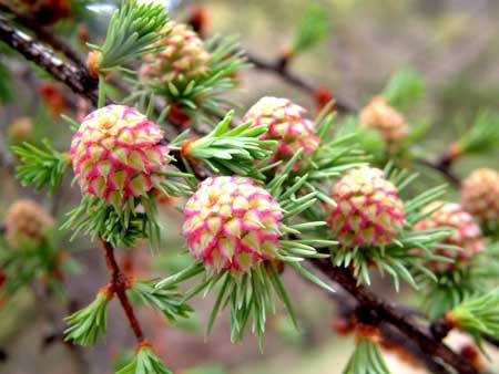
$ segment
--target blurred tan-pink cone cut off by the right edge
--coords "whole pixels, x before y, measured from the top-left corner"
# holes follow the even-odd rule
[[[480,168],[462,181],[460,202],[480,224],[499,222],[499,173]]]

